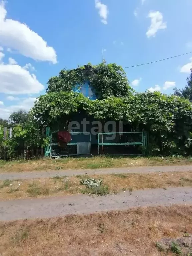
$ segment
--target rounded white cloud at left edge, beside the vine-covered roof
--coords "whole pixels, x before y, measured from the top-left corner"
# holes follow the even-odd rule
[[[0,92],[7,94],[39,93],[44,86],[34,74],[19,65],[0,64]]]

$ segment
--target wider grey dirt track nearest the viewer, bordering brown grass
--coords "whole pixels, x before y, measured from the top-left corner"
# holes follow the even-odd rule
[[[169,188],[129,191],[117,195],[75,195],[45,199],[19,199],[0,202],[0,220],[45,218],[67,214],[90,214],[101,211],[125,210],[138,206],[192,204],[192,188]]]

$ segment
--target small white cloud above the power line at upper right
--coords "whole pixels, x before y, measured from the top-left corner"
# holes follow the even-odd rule
[[[151,25],[146,33],[147,37],[155,36],[159,29],[167,28],[167,23],[163,22],[163,15],[159,11],[150,11],[148,18],[151,18]]]

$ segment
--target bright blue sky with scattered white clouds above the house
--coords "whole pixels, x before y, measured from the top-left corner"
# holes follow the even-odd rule
[[[192,52],[192,0],[0,0],[0,117],[29,110],[62,68]],[[182,88],[192,53],[125,69],[136,91]]]

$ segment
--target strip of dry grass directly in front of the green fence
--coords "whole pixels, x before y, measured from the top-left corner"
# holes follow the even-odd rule
[[[39,160],[18,160],[5,162],[0,160],[0,173],[3,172],[29,172],[40,170],[66,170],[66,169],[98,169],[111,167],[136,166],[163,166],[163,165],[191,165],[192,157],[112,157],[94,156],[66,157],[55,160],[44,158]]]

